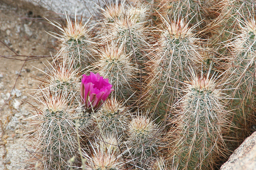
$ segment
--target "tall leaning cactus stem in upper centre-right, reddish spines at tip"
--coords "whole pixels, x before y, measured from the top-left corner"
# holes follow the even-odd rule
[[[195,51],[199,49],[195,44],[199,39],[193,33],[194,27],[189,26],[185,18],[162,19],[164,27],[159,30],[159,52],[149,62],[156,66],[151,69],[152,78],[146,89],[147,93],[150,91],[148,101],[151,103],[149,106],[153,105],[152,111],[156,112],[154,117],[157,114],[164,116],[175,98],[179,97],[180,81],[186,79],[190,63],[198,56]]]

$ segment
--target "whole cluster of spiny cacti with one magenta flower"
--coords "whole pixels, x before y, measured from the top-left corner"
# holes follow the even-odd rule
[[[54,64],[35,80],[39,168],[218,168],[255,131],[255,2],[97,8],[86,22],[49,21],[60,32]]]

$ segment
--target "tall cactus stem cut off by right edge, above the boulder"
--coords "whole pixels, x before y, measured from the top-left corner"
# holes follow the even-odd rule
[[[233,42],[233,60],[230,67],[231,87],[235,88],[230,94],[233,100],[229,107],[235,109],[236,113],[234,123],[238,130],[236,137],[245,139],[250,133],[251,128],[255,124],[254,115],[255,107],[255,72],[256,72],[256,26],[255,19],[251,18],[241,26],[241,34],[239,34]]]

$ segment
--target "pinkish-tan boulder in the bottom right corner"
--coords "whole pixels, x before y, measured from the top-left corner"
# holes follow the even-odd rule
[[[256,132],[247,137],[220,170],[256,170]]]

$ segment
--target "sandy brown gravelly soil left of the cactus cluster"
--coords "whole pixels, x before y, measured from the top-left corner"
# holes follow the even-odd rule
[[[26,132],[33,129],[26,126],[28,122],[23,120],[31,116],[29,111],[31,108],[28,107],[27,101],[31,103],[33,101],[30,100],[28,89],[37,87],[37,84],[31,81],[31,76],[43,78],[43,72],[38,69],[46,68],[43,64],[46,63],[45,58],[24,62],[6,59],[3,56],[15,55],[15,53],[54,55],[55,39],[46,33],[54,32],[54,29],[42,17],[57,16],[32,4],[21,3],[19,0],[0,0],[0,41],[2,41],[0,42],[0,170],[25,170],[29,167],[24,162],[31,157],[25,149],[29,148],[30,144],[26,139],[29,133]],[[51,57],[47,59],[51,61]],[[15,88],[12,90],[14,85]]]

